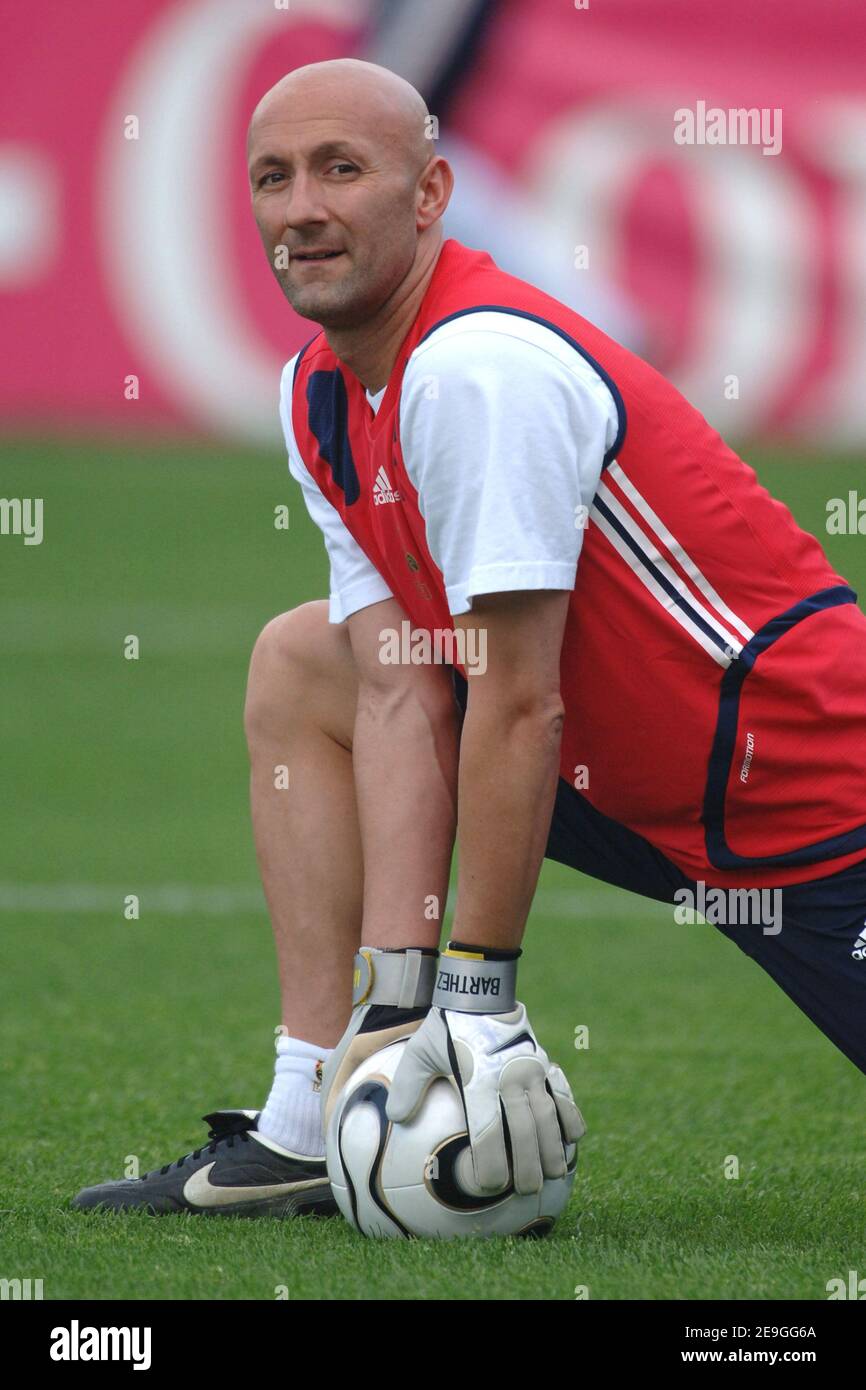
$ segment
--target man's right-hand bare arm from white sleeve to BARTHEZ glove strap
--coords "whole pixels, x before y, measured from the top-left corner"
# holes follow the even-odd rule
[[[460,942],[517,949],[523,938],[559,777],[559,663],[570,596],[489,594],[455,619],[457,628],[484,630],[487,641],[487,669],[468,676],[460,745],[450,933]],[[478,639],[474,651],[484,651]]]

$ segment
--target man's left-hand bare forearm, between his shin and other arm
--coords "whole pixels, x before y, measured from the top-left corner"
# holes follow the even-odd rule
[[[439,944],[457,819],[459,724],[445,671],[417,677],[359,689],[353,759],[363,945]]]

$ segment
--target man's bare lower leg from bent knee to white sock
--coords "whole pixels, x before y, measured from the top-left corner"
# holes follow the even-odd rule
[[[275,617],[250,662],[245,710],[253,834],[271,913],[282,1023],[331,1048],[352,1012],[363,859],[352,770],[357,677],[325,599]],[[288,788],[279,769],[288,769]]]

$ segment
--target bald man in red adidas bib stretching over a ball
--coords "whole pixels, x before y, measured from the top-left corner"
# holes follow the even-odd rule
[[[720,930],[866,1070],[855,595],[657,373],[443,238],[427,135],[354,60],[253,115],[259,231],[322,329],[281,417],[331,560],[329,600],[261,634],[246,706],[284,1036],[261,1112],[82,1207],[332,1209],[331,1105],[406,1034],[393,1122],[453,1076],[478,1191],[560,1175],[584,1123],[514,994],[545,853],[662,901],[781,894]],[[416,645],[443,635],[449,662]]]

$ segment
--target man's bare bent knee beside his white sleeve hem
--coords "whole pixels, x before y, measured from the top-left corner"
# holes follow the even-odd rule
[[[271,731],[313,702],[352,699],[354,663],[343,624],[328,623],[328,600],[314,599],[264,626],[250,659],[243,720],[247,739]]]

